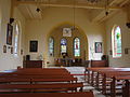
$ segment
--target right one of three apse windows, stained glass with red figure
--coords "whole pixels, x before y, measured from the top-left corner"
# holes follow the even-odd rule
[[[80,56],[80,39],[79,38],[75,38],[74,39],[74,55]]]

